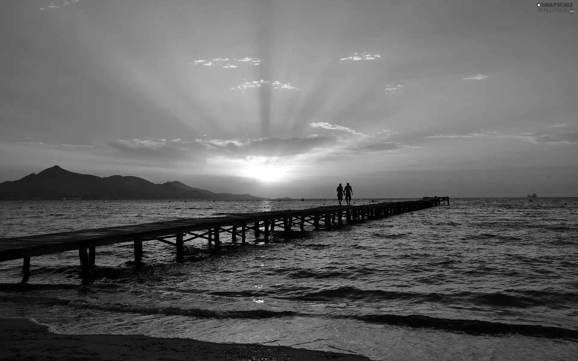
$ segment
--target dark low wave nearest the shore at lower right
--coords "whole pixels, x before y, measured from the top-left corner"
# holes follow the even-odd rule
[[[563,327],[529,325],[523,323],[502,323],[480,321],[477,319],[438,318],[426,315],[392,315],[372,314],[355,316],[354,318],[366,322],[386,323],[388,325],[427,327],[450,331],[461,331],[470,334],[501,334],[517,333],[524,336],[538,336],[548,338],[571,338],[578,340],[578,330]]]

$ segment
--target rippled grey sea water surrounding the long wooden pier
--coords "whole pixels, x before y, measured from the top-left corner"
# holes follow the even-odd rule
[[[0,236],[332,202],[0,202]],[[516,359],[517,348],[533,349],[533,359],[550,348],[569,359],[578,351],[577,214],[578,199],[453,199],[331,232],[276,232],[270,244],[225,239],[219,255],[192,241],[183,264],[170,245],[148,242],[140,270],[132,244],[117,244],[97,248],[89,288],[78,286],[76,252],[32,258],[25,286],[17,284],[21,261],[3,262],[0,312],[66,333],[282,344],[374,359],[412,347],[442,352],[439,359]]]

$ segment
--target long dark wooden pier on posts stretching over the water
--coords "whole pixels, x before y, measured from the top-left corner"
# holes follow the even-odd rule
[[[389,217],[390,215],[450,204],[449,197],[424,198],[403,202],[384,202],[361,206],[327,206],[304,210],[284,210],[229,215],[225,217],[184,218],[174,221],[75,230],[26,237],[0,239],[0,262],[23,259],[23,282],[29,278],[30,259],[66,251],[78,250],[83,284],[90,283],[90,266],[96,259],[96,248],[117,243],[134,243],[135,263],[142,262],[143,242],[160,241],[176,248],[176,262],[183,262],[184,244],[194,239],[208,240],[218,251],[222,235],[231,235],[232,243],[245,243],[248,231],[254,232],[254,241],[269,243],[269,236],[276,227],[289,232],[294,226],[300,230],[331,230],[348,224]],[[322,225],[323,224],[323,225]]]

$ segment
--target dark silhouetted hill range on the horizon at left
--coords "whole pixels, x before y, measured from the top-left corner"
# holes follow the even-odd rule
[[[16,181],[0,183],[0,199],[264,199],[249,194],[213,193],[179,181],[155,184],[132,176],[98,177],[55,165]]]

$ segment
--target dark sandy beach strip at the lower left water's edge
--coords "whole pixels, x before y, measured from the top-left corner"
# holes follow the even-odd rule
[[[217,344],[139,335],[55,334],[28,319],[0,318],[0,360],[342,360],[368,358],[344,353],[251,344]]]

